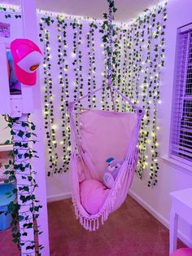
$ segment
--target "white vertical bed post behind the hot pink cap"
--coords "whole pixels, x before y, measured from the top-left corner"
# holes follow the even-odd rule
[[[37,43],[37,13],[36,0],[20,0],[22,7],[22,21],[24,38],[28,38]],[[30,87],[30,88],[29,88]],[[39,210],[37,218],[37,226],[40,227],[42,235],[38,236],[39,245],[43,245],[41,256],[50,256],[49,245],[49,226],[46,202],[46,165],[45,165],[45,143],[44,143],[44,124],[41,106],[41,85],[39,74],[37,72],[37,84],[35,86],[22,85],[22,103],[24,113],[33,113],[31,120],[36,125],[37,143],[33,144],[33,150],[37,151],[39,158],[33,158],[33,170],[36,171],[35,179],[37,182],[37,190],[35,192],[37,201],[40,201],[42,208]]]

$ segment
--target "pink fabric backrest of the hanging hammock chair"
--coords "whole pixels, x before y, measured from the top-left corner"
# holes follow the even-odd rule
[[[107,168],[106,160],[109,157],[114,157],[117,161],[124,159],[133,139],[136,123],[135,113],[100,110],[81,113],[81,146],[89,153],[90,160],[97,170],[98,178],[92,176],[94,179],[103,182],[103,174]]]

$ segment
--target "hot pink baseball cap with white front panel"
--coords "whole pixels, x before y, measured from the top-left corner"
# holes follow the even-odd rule
[[[11,55],[17,79],[24,85],[35,85],[36,70],[43,60],[39,47],[31,40],[15,39],[11,42]]]

